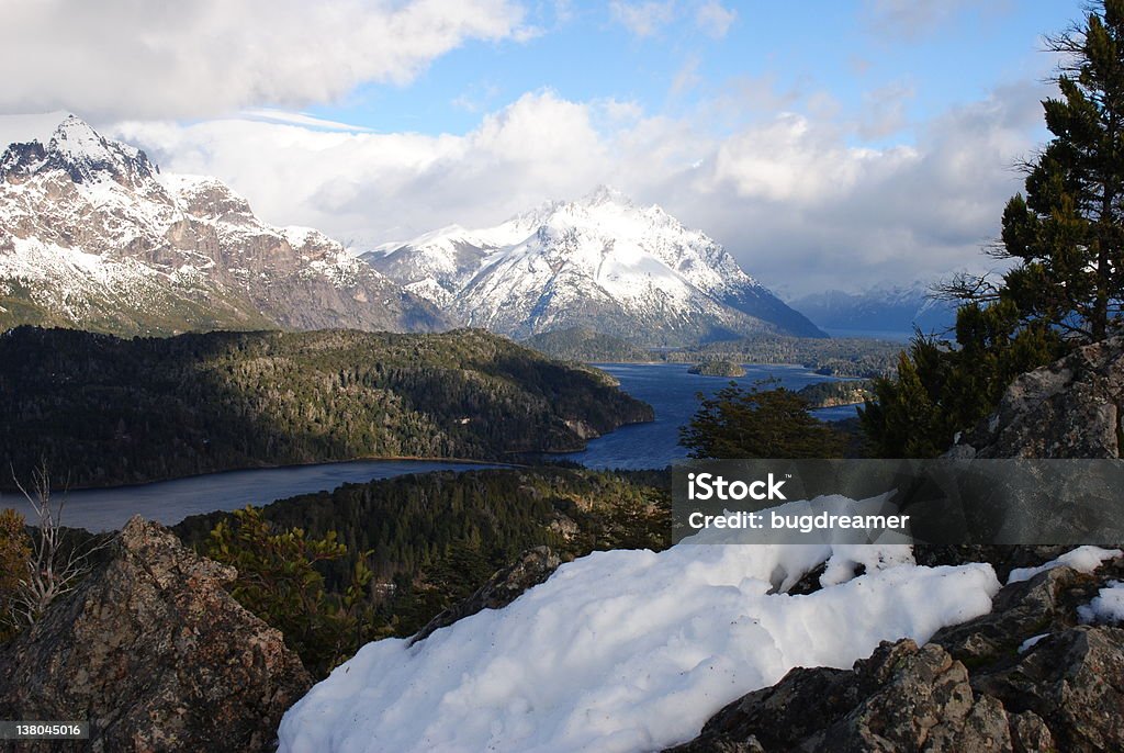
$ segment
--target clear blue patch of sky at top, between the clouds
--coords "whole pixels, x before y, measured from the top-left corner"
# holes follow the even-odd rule
[[[361,85],[306,111],[381,131],[436,135],[466,133],[481,112],[540,89],[678,116],[747,85],[796,98],[800,107],[813,94],[830,97],[842,117],[852,118],[869,110],[872,99],[897,96],[903,128],[863,140],[908,142],[913,126],[953,105],[979,99],[996,84],[1049,74],[1041,35],[1066,27],[1081,3],[946,2],[942,10],[919,2],[896,15],[896,3],[880,11],[868,2],[731,2],[725,8],[734,17],[722,36],[696,22],[706,3],[652,13],[656,20],[644,35],[623,22],[611,3],[564,3],[561,15],[556,4],[529,9],[528,21],[540,29],[529,39],[471,42],[409,84]],[[924,10],[926,4],[934,7]],[[755,110],[745,97],[745,109]],[[738,115],[745,114],[729,117]]]

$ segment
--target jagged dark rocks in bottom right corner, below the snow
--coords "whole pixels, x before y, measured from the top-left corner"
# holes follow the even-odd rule
[[[851,670],[790,671],[716,714],[677,753],[1124,750],[1124,629],[1078,607],[1124,575],[1066,566],[1005,587],[930,643],[882,643]]]

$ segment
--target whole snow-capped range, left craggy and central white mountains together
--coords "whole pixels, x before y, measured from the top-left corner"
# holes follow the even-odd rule
[[[357,257],[273,227],[215,178],[162,173],[69,116],[0,155],[0,330],[587,327],[643,346],[824,333],[700,230],[599,188]]]

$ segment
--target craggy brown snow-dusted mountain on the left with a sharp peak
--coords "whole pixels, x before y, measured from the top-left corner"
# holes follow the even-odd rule
[[[0,330],[433,329],[442,315],[308,228],[275,228],[214,178],[161,174],[70,116],[0,156]]]

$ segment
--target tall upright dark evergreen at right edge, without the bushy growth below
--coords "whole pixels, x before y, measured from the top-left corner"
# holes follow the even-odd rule
[[[1016,264],[999,285],[961,279],[951,291],[1009,301],[1018,326],[1097,342],[1118,325],[1124,301],[1124,0],[1097,3],[1048,47],[1062,55],[1061,96],[1042,102],[1053,137],[1026,165],[1026,193],[1007,202],[994,250]]]

